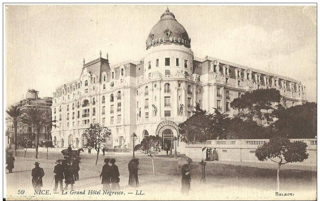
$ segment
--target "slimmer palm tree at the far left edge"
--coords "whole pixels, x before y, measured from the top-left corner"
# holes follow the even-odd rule
[[[9,106],[5,112],[9,115],[7,120],[13,123],[14,135],[13,135],[13,143],[14,143],[14,155],[17,156],[17,145],[18,145],[18,122],[20,121],[21,115],[23,114],[23,110],[18,105]]]

